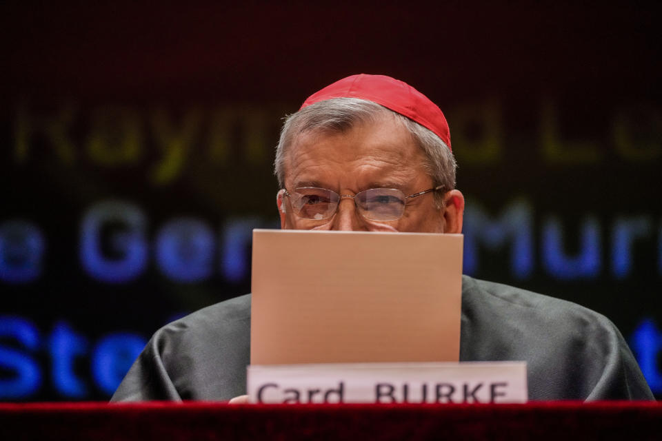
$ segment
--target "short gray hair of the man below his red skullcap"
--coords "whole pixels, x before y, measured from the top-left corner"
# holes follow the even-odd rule
[[[304,132],[345,132],[358,123],[374,122],[384,114],[392,114],[409,130],[414,141],[425,154],[423,167],[432,178],[434,187],[443,185],[448,191],[455,188],[455,170],[457,164],[450,148],[439,136],[419,123],[373,101],[358,98],[334,98],[304,107],[285,118],[281,137],[276,147],[274,174],[281,188],[285,188],[285,156],[288,147],[296,136]],[[438,207],[443,204],[443,197],[434,194]]]

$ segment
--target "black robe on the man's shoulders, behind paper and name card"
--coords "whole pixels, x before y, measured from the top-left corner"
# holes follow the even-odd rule
[[[463,276],[460,361],[525,360],[530,400],[650,400],[608,318],[565,300]],[[112,401],[230,400],[246,393],[250,294],[157,331]]]

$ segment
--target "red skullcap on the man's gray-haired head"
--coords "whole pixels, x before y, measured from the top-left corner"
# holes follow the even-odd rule
[[[403,81],[385,75],[348,76],[308,96],[301,109],[333,98],[359,98],[381,104],[432,130],[450,149],[448,123],[441,109]]]

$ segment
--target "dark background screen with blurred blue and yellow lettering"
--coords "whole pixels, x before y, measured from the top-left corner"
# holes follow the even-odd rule
[[[105,338],[146,339],[250,291],[244,238],[277,225],[281,118],[360,72],[410,83],[448,117],[477,244],[465,270],[605,314],[662,393],[656,9],[9,2],[0,17],[0,260],[28,265],[21,252],[8,257],[25,237],[7,225],[33,225],[43,239],[38,276],[0,273],[0,400],[105,400]],[[146,266],[132,280],[105,282],[81,258],[83,223],[108,201],[144,216]],[[514,209],[523,217],[495,235],[530,231],[530,255],[513,251],[515,236],[492,247],[481,236]],[[212,237],[210,273],[197,281],[178,281],[157,257],[178,218]],[[637,232],[629,254],[623,225]],[[103,225],[109,260],[123,258],[126,231]],[[553,243],[565,267],[554,266]],[[178,246],[195,260],[195,243]],[[629,269],[614,269],[619,256]],[[126,370],[133,353],[120,349],[114,365]]]

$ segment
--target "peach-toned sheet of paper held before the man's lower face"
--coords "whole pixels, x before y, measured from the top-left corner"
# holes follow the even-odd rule
[[[457,361],[462,241],[255,229],[251,364]]]

